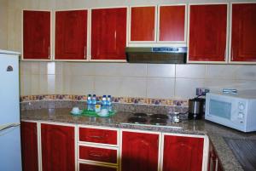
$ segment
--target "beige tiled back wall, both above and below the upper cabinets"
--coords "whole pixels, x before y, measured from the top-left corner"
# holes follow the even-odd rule
[[[8,2],[8,48],[20,51],[21,9],[81,9],[177,2],[206,1],[12,0]],[[94,93],[186,99],[195,96],[196,87],[207,87],[212,91],[256,89],[256,66],[20,62],[21,95]]]

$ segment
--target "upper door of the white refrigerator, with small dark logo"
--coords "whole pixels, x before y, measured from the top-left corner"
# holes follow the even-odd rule
[[[20,123],[18,57],[0,51],[0,125]]]

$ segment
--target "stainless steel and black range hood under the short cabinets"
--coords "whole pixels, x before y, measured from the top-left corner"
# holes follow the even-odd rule
[[[185,64],[187,47],[127,47],[125,54],[129,63]]]

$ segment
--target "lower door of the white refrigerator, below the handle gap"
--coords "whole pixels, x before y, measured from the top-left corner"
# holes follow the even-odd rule
[[[21,171],[20,126],[0,131],[0,170]]]

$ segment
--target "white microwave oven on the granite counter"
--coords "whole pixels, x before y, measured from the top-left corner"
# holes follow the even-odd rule
[[[208,93],[205,119],[242,132],[256,131],[256,96]]]

